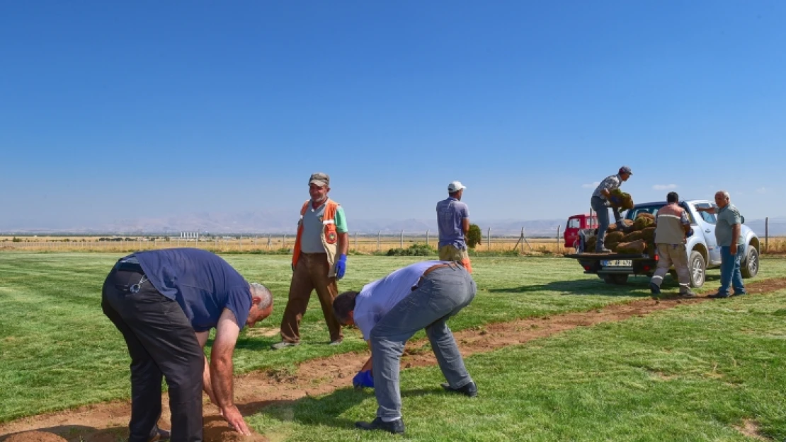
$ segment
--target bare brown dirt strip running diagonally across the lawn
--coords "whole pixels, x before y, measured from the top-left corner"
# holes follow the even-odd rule
[[[750,294],[762,294],[786,287],[786,278],[766,279],[747,284]],[[645,316],[676,305],[712,301],[708,298],[677,299],[650,298],[607,305],[588,312],[573,312],[506,323],[487,324],[454,333],[461,354],[490,352],[508,345],[545,338],[575,327],[589,327],[597,323],[626,320]],[[410,342],[402,356],[402,368],[435,365],[434,354],[421,348],[427,340]],[[318,396],[336,389],[347,388],[351,378],[369,357],[368,353],[343,353],[301,363],[293,373],[285,371],[257,371],[235,378],[235,403],[243,415],[252,415],[264,407],[285,404],[305,396]],[[482,381],[481,381],[482,384]],[[162,428],[169,428],[168,398],[163,398]],[[0,441],[49,442],[65,438],[69,442],[116,442],[127,437],[130,403],[116,401],[79,407],[72,410],[22,418],[0,424]],[[32,432],[28,434],[20,434]],[[46,433],[51,436],[46,438]],[[26,437],[26,436],[30,437]],[[212,404],[204,407],[205,442],[265,441],[263,435],[241,437],[233,432]]]

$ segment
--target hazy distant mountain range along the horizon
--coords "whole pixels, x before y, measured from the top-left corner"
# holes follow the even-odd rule
[[[293,219],[294,218],[294,219]],[[24,228],[22,226],[0,224],[0,233],[17,235],[179,235],[180,232],[200,232],[205,234],[222,235],[266,235],[266,234],[294,234],[296,230],[296,217],[289,212],[239,212],[217,213],[204,212],[186,214],[182,216],[134,218],[114,221],[105,225],[90,225],[74,228]],[[557,226],[560,232],[564,231],[566,219],[546,219],[534,221],[521,220],[474,220],[483,230],[485,235],[490,228],[495,236],[516,236],[525,229],[527,236],[556,236]],[[752,228],[758,236],[764,236],[764,220],[747,220],[745,225]],[[361,235],[431,235],[437,232],[436,222],[433,219],[349,219],[349,228],[352,234]],[[769,236],[786,236],[786,217],[769,219]]]

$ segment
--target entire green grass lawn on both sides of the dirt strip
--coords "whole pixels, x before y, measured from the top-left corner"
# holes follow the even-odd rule
[[[128,356],[100,308],[116,254],[0,253],[0,422],[129,395]],[[249,280],[273,290],[270,319],[237,344],[236,372],[294,367],[365,349],[357,331],[331,347],[318,301],[303,343],[269,350],[291,275],[288,257],[229,254]],[[341,290],[417,261],[352,256]],[[479,293],[451,320],[454,330],[647,298],[648,280],[610,286],[565,258],[475,258]],[[757,279],[786,276],[786,260],[763,259]],[[676,290],[674,283],[667,290]],[[703,292],[718,286],[710,271]],[[786,290],[684,305],[644,318],[578,327],[468,358],[476,400],[439,391],[436,367],[402,372],[406,438],[413,440],[753,440],[786,437]],[[347,384],[350,382],[347,381]],[[271,440],[383,440],[358,434],[373,393],[351,388],[264,409],[248,421]]]

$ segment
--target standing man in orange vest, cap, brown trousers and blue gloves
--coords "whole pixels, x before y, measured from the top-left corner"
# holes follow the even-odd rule
[[[300,320],[308,307],[311,291],[317,290],[322,313],[330,331],[330,345],[343,340],[341,325],[333,315],[332,302],[338,295],[337,279],[347,270],[347,218],[339,203],[328,198],[330,177],[318,172],[308,181],[311,196],[300,210],[289,300],[281,320],[281,342],[272,349],[299,345]]]

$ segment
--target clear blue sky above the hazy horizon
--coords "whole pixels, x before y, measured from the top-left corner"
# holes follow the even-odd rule
[[[786,215],[786,2],[0,2],[0,217]],[[7,223],[6,223],[7,224]]]

